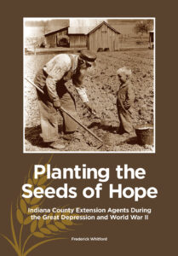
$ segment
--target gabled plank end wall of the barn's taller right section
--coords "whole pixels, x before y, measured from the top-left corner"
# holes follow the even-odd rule
[[[89,34],[88,48],[97,51],[99,48],[109,50],[118,50],[120,41],[120,34],[114,32],[110,27],[103,24],[95,32]]]

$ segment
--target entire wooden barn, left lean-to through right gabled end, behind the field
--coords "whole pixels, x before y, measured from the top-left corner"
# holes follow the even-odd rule
[[[98,50],[114,51],[120,48],[121,34],[103,21],[95,27],[67,26],[55,32],[49,32],[45,34],[45,43],[47,47],[62,46],[60,39],[65,40],[65,38],[69,41],[70,48],[88,48],[95,52]]]

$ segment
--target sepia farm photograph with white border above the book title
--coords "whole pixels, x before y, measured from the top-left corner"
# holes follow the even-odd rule
[[[23,19],[23,152],[155,153],[155,18]]]

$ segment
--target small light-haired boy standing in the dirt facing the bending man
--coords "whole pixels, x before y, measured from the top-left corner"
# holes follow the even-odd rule
[[[135,100],[135,93],[130,82],[132,72],[130,69],[122,67],[118,69],[117,74],[120,83],[117,94],[118,119],[120,121],[118,133],[131,133],[134,131],[134,128],[130,108],[133,106]]]

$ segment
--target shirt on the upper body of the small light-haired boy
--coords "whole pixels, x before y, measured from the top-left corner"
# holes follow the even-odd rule
[[[135,100],[135,92],[130,81],[122,84],[118,90],[117,103],[123,109],[129,109]]]

